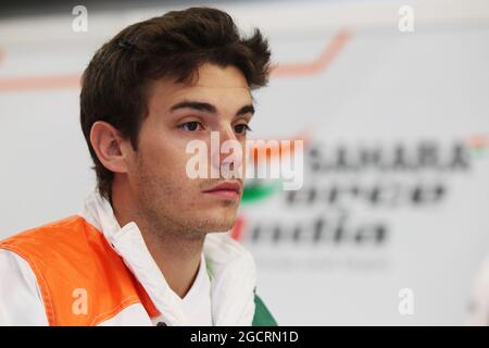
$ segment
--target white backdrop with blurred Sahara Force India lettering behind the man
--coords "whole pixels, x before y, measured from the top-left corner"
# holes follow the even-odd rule
[[[397,2],[222,8],[260,26],[278,64],[252,137],[304,140],[302,188],[247,181],[230,232],[279,324],[464,324],[489,252],[487,2],[413,2],[408,33]],[[88,9],[87,33],[71,9],[0,23],[0,237],[79,210],[93,185],[80,72],[166,10]]]

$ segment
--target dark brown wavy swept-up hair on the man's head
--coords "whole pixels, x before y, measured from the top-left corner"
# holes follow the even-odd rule
[[[203,63],[236,66],[250,89],[263,87],[271,71],[268,41],[258,28],[243,37],[226,12],[189,8],[133,24],[95,53],[82,77],[80,122],[102,196],[111,198],[114,173],[90,144],[93,123],[110,123],[137,150],[150,82],[191,83]]]

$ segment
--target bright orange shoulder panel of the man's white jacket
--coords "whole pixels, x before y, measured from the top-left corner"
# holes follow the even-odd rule
[[[71,216],[0,241],[25,259],[36,275],[50,325],[97,325],[142,303],[160,313],[111,248],[82,216]]]

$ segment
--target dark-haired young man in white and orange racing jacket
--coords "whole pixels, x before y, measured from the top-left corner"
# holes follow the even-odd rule
[[[211,132],[244,145],[269,57],[260,30],[241,37],[210,8],[134,24],[96,52],[80,119],[98,189],[79,215],[0,243],[0,324],[275,325],[251,254],[223,233],[242,178],[190,178],[186,151]]]

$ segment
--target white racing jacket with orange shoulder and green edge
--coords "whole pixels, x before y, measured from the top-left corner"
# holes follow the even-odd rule
[[[227,233],[209,234],[213,325],[276,325],[255,295],[253,258]],[[188,325],[138,226],[120,227],[93,192],[80,214],[0,241],[1,325]]]

